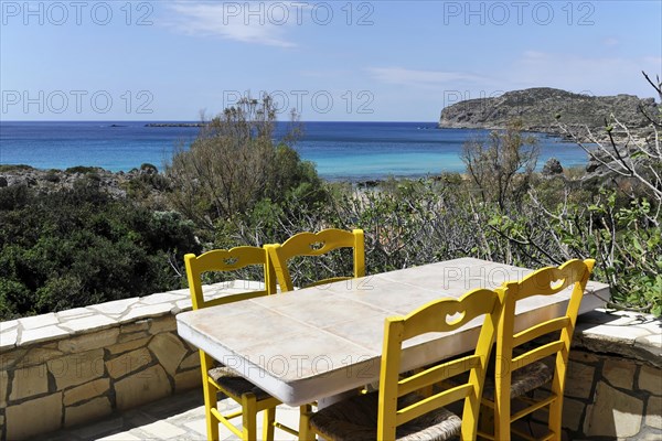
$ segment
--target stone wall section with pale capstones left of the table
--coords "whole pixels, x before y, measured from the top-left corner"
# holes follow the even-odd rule
[[[0,323],[0,439],[31,439],[201,387],[197,349],[174,320],[190,308],[185,289]]]

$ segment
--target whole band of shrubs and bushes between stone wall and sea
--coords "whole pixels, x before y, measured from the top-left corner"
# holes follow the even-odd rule
[[[662,315],[659,105],[641,109],[643,132],[612,117],[578,133],[556,118],[555,130],[586,148],[590,172],[554,161],[534,172],[537,148],[513,119],[467,143],[463,175],[376,186],[322,181],[292,147],[297,116],[275,140],[273,110],[269,97],[227,109],[163,173],[143,164],[121,179],[95,169],[3,178],[0,319],[182,288],[185,252],[330,226],[365,230],[367,273],[465,256],[524,267],[594,257],[612,306]],[[342,270],[346,257],[296,262],[295,283]]]

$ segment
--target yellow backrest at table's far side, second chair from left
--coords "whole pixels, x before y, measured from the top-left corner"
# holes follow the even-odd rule
[[[329,228],[319,233],[299,233],[282,244],[266,245],[265,248],[269,251],[281,291],[295,289],[288,270],[288,261],[296,256],[321,256],[339,248],[353,248],[354,250],[354,273],[352,276],[318,280],[309,287],[365,276],[365,250],[362,229],[348,232]]]

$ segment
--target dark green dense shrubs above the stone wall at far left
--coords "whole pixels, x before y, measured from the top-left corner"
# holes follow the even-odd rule
[[[0,320],[181,288],[193,225],[79,184],[0,189]]]

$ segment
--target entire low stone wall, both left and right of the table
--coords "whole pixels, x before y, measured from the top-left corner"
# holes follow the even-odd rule
[[[246,289],[259,286],[205,290]],[[0,323],[0,439],[31,439],[201,387],[197,351],[174,321],[190,306],[189,291],[179,290]],[[661,348],[660,320],[583,315],[564,401],[567,439],[662,439]]]

